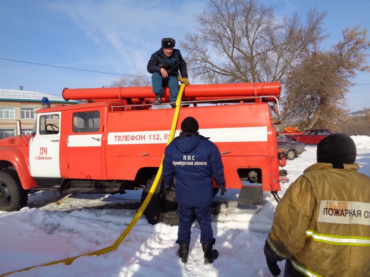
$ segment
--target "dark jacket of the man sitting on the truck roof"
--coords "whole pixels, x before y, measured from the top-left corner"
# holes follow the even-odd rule
[[[152,74],[154,72],[158,72],[160,74],[161,67],[163,67],[166,69],[168,76],[178,76],[178,71],[180,71],[182,78],[188,78],[186,62],[182,58],[180,50],[174,49],[171,57],[175,58],[175,64],[173,66],[169,65],[166,55],[163,53],[162,48],[160,48],[157,52],[151,55],[147,66],[148,72]]]

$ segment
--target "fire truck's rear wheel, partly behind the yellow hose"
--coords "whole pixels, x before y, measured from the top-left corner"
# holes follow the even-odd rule
[[[147,197],[149,190],[152,187],[155,177],[148,180],[147,185],[143,189],[141,195],[141,203],[144,202],[145,198]],[[150,199],[147,208],[144,211],[145,218],[148,220],[149,223],[152,225],[157,224],[159,222],[166,223],[168,225],[174,226],[179,225],[179,216],[177,214],[177,202],[170,201],[170,199],[166,199],[165,195],[163,194],[164,191],[164,181],[163,178],[159,179],[161,182],[158,183],[155,191],[153,193],[152,199]],[[175,192],[171,192],[173,197],[175,196]]]

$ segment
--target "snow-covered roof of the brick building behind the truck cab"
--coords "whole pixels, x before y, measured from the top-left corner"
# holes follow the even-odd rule
[[[47,97],[49,102],[57,103],[80,103],[76,100],[64,100],[61,95],[52,95],[32,90],[0,89],[0,100],[41,102]]]

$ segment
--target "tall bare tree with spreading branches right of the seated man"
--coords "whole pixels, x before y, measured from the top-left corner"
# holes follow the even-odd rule
[[[327,37],[326,12],[310,9],[276,18],[258,0],[209,0],[195,16],[198,33],[186,34],[188,69],[208,82],[281,81],[289,68]]]

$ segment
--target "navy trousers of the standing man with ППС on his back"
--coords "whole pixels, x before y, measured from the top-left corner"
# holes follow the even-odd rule
[[[215,244],[211,226],[211,204],[206,206],[185,206],[179,204],[177,211],[179,215],[179,229],[176,243],[190,242],[190,229],[196,218],[201,229],[201,243]]]

